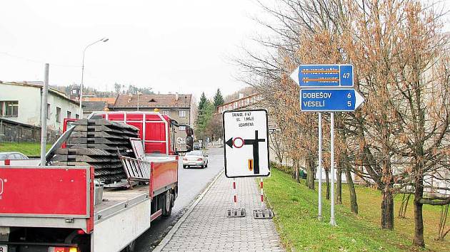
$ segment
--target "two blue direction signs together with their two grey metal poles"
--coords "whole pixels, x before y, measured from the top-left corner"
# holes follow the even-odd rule
[[[322,113],[331,112],[331,218],[334,219],[334,112],[352,112],[364,98],[354,90],[353,65],[299,65],[291,73],[292,80],[300,87],[301,112],[319,112],[319,213],[322,219]]]

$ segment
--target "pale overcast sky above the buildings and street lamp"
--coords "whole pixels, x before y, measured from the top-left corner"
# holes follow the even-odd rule
[[[244,87],[229,58],[259,26],[251,0],[227,1],[1,1],[0,80],[80,83],[113,90],[114,83],[156,92],[214,95]]]

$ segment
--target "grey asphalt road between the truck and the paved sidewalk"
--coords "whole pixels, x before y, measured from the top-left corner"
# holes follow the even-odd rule
[[[168,219],[159,217],[151,222],[151,228],[136,239],[136,252],[152,251],[170,230],[176,221],[181,218],[189,205],[196,199],[206,185],[224,169],[224,149],[208,149],[208,167],[205,169],[193,167],[183,169],[181,159],[179,164],[179,189],[172,215]]]

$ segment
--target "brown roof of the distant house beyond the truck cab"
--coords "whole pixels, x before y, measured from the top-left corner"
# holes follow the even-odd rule
[[[191,94],[154,94],[139,95],[139,107],[191,107]],[[117,96],[114,107],[137,107],[137,95]]]

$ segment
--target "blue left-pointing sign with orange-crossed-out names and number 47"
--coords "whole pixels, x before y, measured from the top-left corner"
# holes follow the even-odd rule
[[[300,88],[351,88],[353,65],[299,65],[291,78]]]

